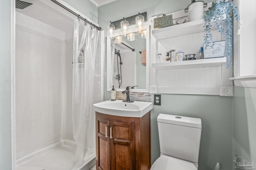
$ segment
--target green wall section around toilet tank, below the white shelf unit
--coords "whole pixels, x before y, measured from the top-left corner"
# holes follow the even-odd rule
[[[153,96],[151,101],[153,101]],[[199,170],[232,169],[232,98],[204,95],[162,94],[161,106],[151,115],[152,163],[160,156],[156,118],[159,113],[202,119]]]

